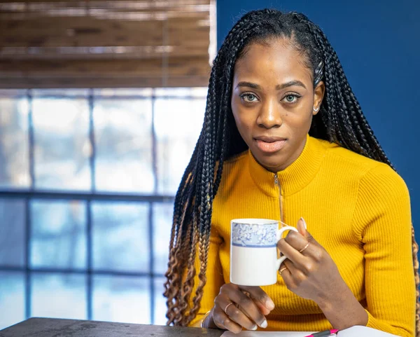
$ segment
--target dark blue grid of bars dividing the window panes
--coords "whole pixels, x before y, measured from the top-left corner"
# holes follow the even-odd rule
[[[66,90],[66,89],[63,89]],[[90,178],[91,186],[90,191],[67,191],[57,190],[52,191],[48,189],[35,188],[35,172],[34,172],[34,123],[33,123],[33,99],[31,89],[25,90],[25,95],[22,93],[12,94],[5,96],[4,92],[9,90],[1,90],[1,97],[10,97],[12,99],[20,99],[26,97],[28,100],[28,142],[29,142],[29,175],[30,185],[29,188],[1,188],[0,199],[5,200],[23,200],[25,202],[25,263],[24,266],[3,266],[0,265],[0,271],[9,272],[23,272],[25,275],[25,319],[31,317],[31,294],[32,285],[31,277],[33,273],[61,273],[61,274],[81,274],[86,275],[86,305],[87,305],[87,319],[92,319],[92,294],[93,294],[93,277],[95,275],[108,275],[108,276],[129,276],[129,277],[147,277],[150,284],[150,322],[155,323],[155,279],[162,278],[162,273],[154,272],[154,255],[155,249],[153,247],[153,219],[155,203],[174,203],[174,195],[158,194],[158,165],[157,165],[157,138],[155,134],[155,100],[156,99],[204,99],[201,95],[155,95],[155,89],[152,89],[151,95],[112,95],[110,97],[94,95],[94,89],[88,89],[87,95],[36,95],[36,98],[83,98],[88,100],[89,105],[89,139],[92,146],[92,152],[89,158],[90,165]],[[10,90],[11,92],[12,90]],[[22,92],[22,90],[19,90]],[[151,99],[152,102],[152,164],[153,174],[155,178],[154,192],[152,194],[140,193],[118,193],[118,192],[104,192],[97,191],[95,186],[95,158],[96,158],[96,143],[94,137],[94,103],[95,99]],[[73,269],[73,268],[38,268],[29,266],[30,253],[31,253],[31,200],[78,200],[85,202],[86,207],[86,238],[87,238],[87,263],[86,268]],[[134,272],[120,272],[116,270],[97,270],[92,268],[92,202],[96,201],[116,201],[116,202],[145,202],[148,203],[148,245],[151,247],[151,254],[149,256],[149,272],[148,273],[134,273]],[[169,245],[169,242],[168,242]]]

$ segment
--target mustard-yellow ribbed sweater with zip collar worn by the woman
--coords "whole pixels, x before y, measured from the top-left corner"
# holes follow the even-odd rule
[[[281,188],[249,151],[225,163],[214,200],[207,284],[191,325],[211,310],[221,285],[230,282],[231,219],[282,216],[296,226],[303,216],[367,310],[367,326],[414,336],[411,214],[400,176],[388,165],[308,136],[300,157],[278,177]],[[318,305],[289,291],[280,275],[262,289],[276,305],[265,331],[331,328]]]

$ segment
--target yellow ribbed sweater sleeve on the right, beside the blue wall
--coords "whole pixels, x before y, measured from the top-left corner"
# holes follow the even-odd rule
[[[407,186],[388,165],[360,181],[353,226],[365,251],[367,326],[414,336],[416,287]]]

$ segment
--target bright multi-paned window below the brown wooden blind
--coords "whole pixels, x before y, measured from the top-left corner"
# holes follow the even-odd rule
[[[165,324],[174,195],[207,88],[0,90],[0,329]]]

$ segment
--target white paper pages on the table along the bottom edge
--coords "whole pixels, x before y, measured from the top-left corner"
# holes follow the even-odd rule
[[[225,331],[221,337],[305,337],[316,331],[241,331],[232,333]],[[332,335],[335,336],[335,335]],[[395,337],[391,333],[368,328],[367,326],[351,326],[338,331],[337,337]],[[398,337],[398,336],[397,336]]]

